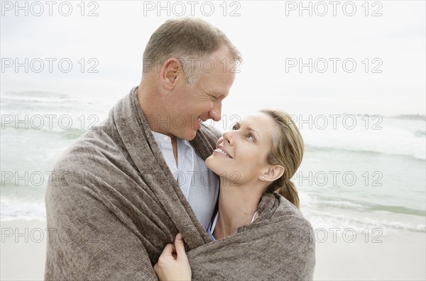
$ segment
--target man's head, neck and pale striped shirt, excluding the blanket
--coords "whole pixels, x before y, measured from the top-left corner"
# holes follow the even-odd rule
[[[231,72],[235,57],[241,59],[220,30],[195,20],[163,24],[143,54],[139,104],[168,167],[204,228],[217,201],[217,178],[206,175],[204,159],[184,140],[195,138],[202,121],[220,120],[222,101],[235,78]],[[224,71],[226,67],[228,71]],[[207,182],[212,186],[203,188]]]

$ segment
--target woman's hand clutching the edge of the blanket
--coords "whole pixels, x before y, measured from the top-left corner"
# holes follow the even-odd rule
[[[182,234],[178,233],[175,245],[167,244],[154,265],[158,280],[191,280],[190,262],[185,253]]]

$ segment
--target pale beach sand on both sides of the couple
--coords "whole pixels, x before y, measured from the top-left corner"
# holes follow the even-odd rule
[[[46,223],[37,220],[1,222],[1,280],[43,280],[48,243],[45,229]],[[334,240],[331,231],[327,239],[320,232],[314,280],[426,279],[425,233],[402,230],[380,237],[369,235],[366,240],[364,234],[354,239],[335,231]]]

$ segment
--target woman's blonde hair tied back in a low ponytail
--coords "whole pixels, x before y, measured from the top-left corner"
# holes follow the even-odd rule
[[[284,167],[283,176],[266,187],[265,193],[278,193],[300,207],[299,195],[296,186],[290,181],[297,168],[302,163],[304,144],[302,135],[288,113],[283,110],[261,110],[271,116],[280,128],[278,134],[273,138],[271,151],[267,161],[271,165]]]

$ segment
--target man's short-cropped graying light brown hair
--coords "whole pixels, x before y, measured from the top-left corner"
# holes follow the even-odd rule
[[[228,47],[234,59],[241,62],[236,47],[219,28],[207,21],[200,18],[168,20],[155,30],[146,45],[143,73],[160,67],[173,57],[180,60],[187,84],[192,85],[199,77],[201,62],[222,46]]]

